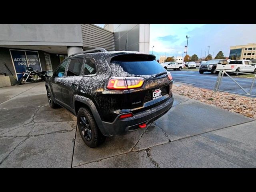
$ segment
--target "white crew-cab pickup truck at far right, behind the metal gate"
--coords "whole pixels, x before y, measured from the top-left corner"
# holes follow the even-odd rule
[[[226,69],[226,72],[253,72],[256,74],[256,65],[249,60],[231,60],[227,65],[220,65],[216,68],[216,71],[220,71],[220,69]],[[239,73],[234,73],[235,75],[239,75]]]

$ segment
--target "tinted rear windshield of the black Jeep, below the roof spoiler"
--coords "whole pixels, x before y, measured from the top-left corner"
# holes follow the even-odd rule
[[[150,55],[120,55],[112,58],[111,64],[118,65],[124,72],[134,75],[153,75],[166,71],[155,57]]]

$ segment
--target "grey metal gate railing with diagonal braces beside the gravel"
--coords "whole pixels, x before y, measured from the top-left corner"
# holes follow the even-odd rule
[[[228,73],[238,73],[238,74],[250,74],[250,75],[252,75],[251,73],[244,73],[244,72],[238,72],[238,71],[233,72],[233,71],[231,71],[231,70],[220,69],[220,72],[219,72],[219,74],[218,74],[218,78],[217,78],[216,84],[215,84],[215,86],[214,86],[214,92],[217,92],[217,91],[219,90],[220,84],[221,84],[221,82],[222,82],[222,78],[223,78],[224,74],[226,74],[232,81],[234,81],[234,82],[246,93],[246,94],[242,94],[242,95],[249,95],[249,96],[255,96],[255,97],[256,97],[256,95],[251,94],[252,88],[253,88],[253,86],[254,86],[256,74],[254,74],[254,78],[253,78],[253,80],[252,80],[252,84],[251,84],[250,90],[249,90],[249,92],[248,92],[248,91],[246,91],[238,82],[236,82],[236,80],[234,80],[234,78],[232,78],[226,71],[227,71]],[[223,91],[223,90],[221,90],[221,91],[222,91],[222,92],[235,93],[235,94],[241,94],[241,93],[237,93],[237,92],[230,92],[230,91]]]

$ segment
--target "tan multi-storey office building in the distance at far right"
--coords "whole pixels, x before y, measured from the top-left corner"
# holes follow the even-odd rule
[[[256,43],[248,43],[247,45],[237,45],[230,47],[230,59],[256,59]]]

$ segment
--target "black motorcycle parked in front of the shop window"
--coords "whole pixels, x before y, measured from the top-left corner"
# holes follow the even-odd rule
[[[27,80],[31,80],[32,82],[38,82],[38,81],[45,81],[46,76],[45,76],[45,71],[38,72],[38,70],[33,70],[32,67],[27,67],[26,72],[24,72],[24,75],[20,79],[19,84],[22,85],[26,83]]]

